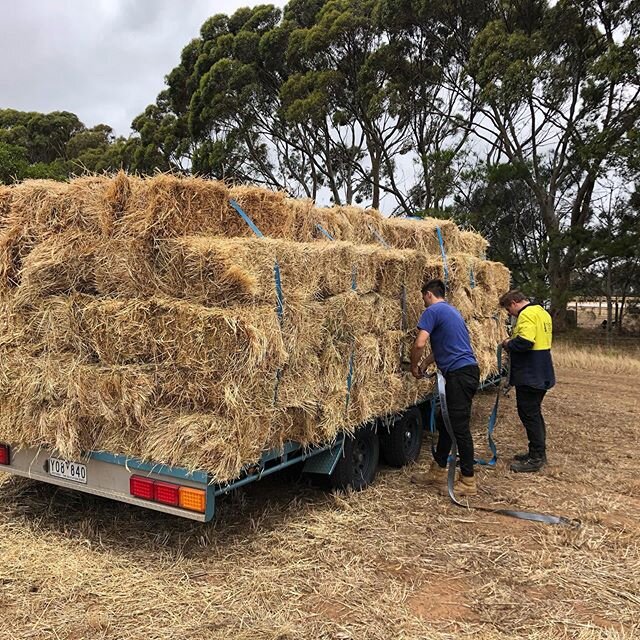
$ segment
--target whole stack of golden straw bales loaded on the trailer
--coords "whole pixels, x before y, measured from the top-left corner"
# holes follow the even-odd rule
[[[172,176],[2,188],[0,440],[225,481],[265,448],[401,411],[431,388],[406,364],[420,285],[445,274],[436,228],[486,376],[509,275],[450,221]]]

